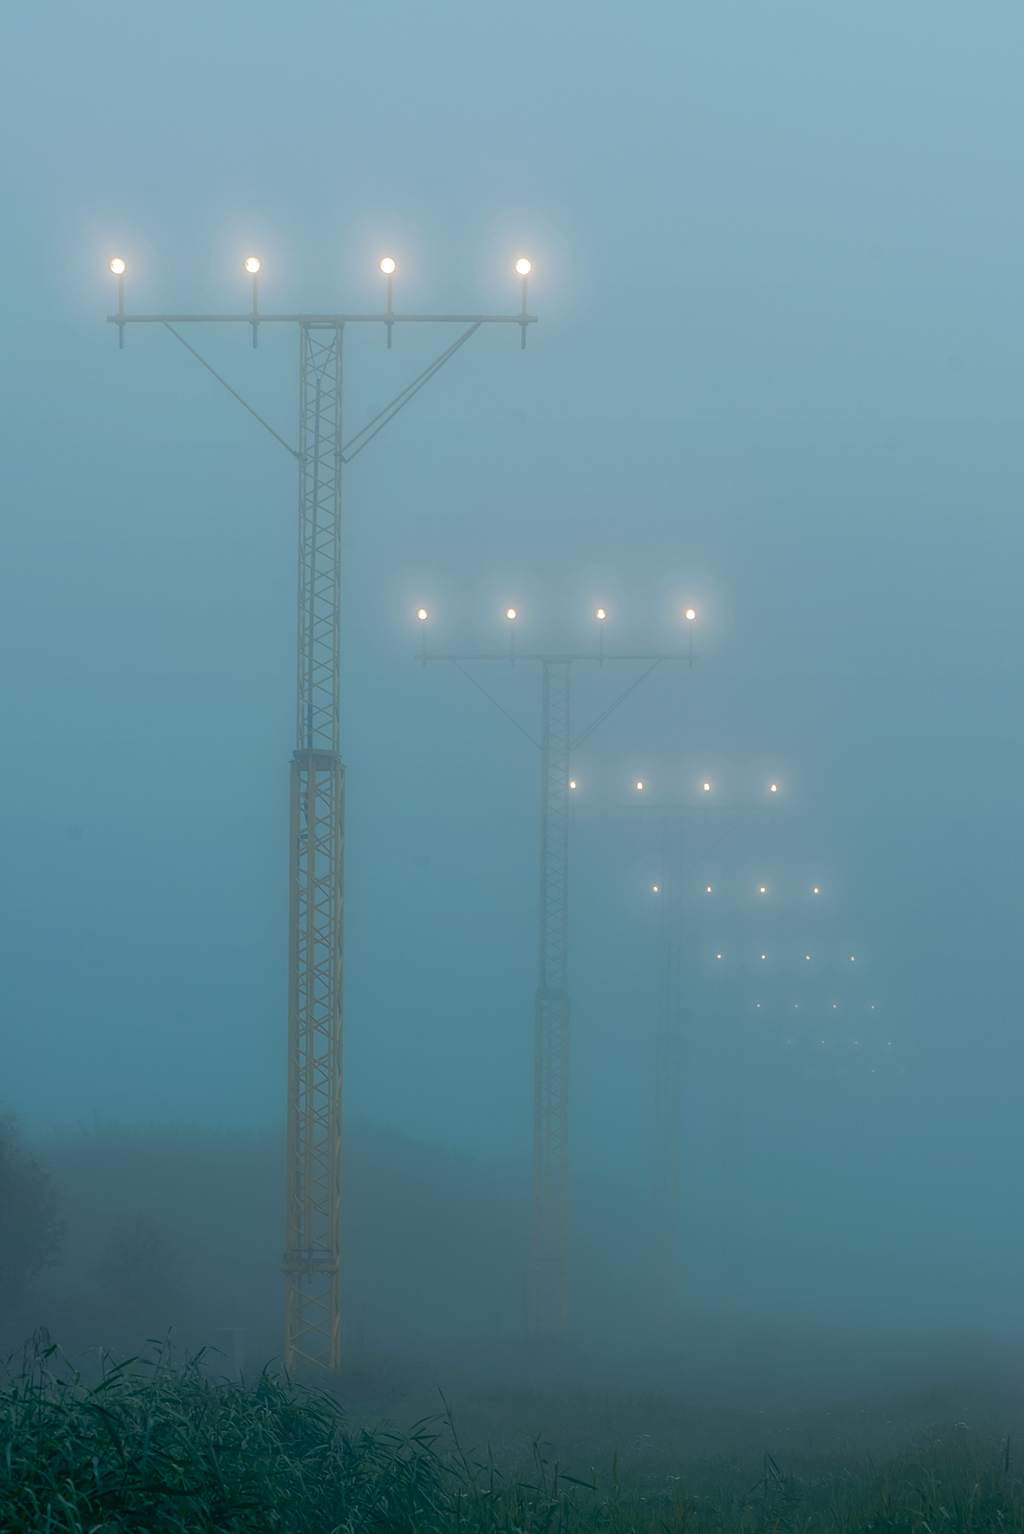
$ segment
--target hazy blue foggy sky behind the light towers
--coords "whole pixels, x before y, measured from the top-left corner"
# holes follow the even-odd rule
[[[394,1132],[448,1147],[429,1197],[457,1184],[472,1239],[432,1249],[437,1284],[478,1247],[503,1278],[472,1327],[512,1315],[537,755],[415,664],[415,607],[432,644],[491,649],[514,603],[532,650],[592,646],[599,601],[609,647],[647,650],[691,601],[699,663],[575,762],[576,1313],[625,1336],[641,1309],[659,831],[584,805],[642,778],[694,807],[694,1325],[1019,1336],[1022,41],[1010,5],[6,12],[0,1095],[94,1244],[115,1187],[196,1241],[172,1206],[228,1131],[224,1198],[248,1164],[277,1207],[274,1154],[244,1146],[284,1117],[294,729],[294,463],[166,331],[118,353],[107,262],[139,311],[247,307],[253,250],[268,311],[376,308],[385,253],[400,310],[509,310],[529,253],[527,351],[474,337],[346,476],[350,1207],[408,1192],[428,1154]],[[296,437],[291,328],[190,339]],[[446,339],[346,337],[350,422]],[[632,675],[581,669],[579,724]],[[535,669],[487,684],[537,727]],[[727,807],[777,781],[774,825],[708,853],[705,775]],[[708,974],[724,931],[774,943],[760,1031]],[[783,1026],[805,942],[845,1008],[820,1045]],[[110,1126],[193,1126],[176,1190]],[[273,1309],[259,1220],[216,1261]],[[395,1335],[437,1322],[411,1295]]]

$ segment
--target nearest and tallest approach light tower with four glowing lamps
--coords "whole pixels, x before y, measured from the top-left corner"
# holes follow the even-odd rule
[[[345,904],[345,767],[340,756],[340,586],[342,465],[392,420],[481,325],[518,325],[521,345],[537,324],[527,313],[530,262],[518,314],[397,314],[395,261],[385,256],[386,307],[371,314],[259,311],[258,256],[244,261],[253,279],[245,314],[127,314],[126,262],[115,256],[118,327],[162,325],[274,437],[299,465],[299,655],[296,749],[291,756],[290,937],[288,937],[288,1192],[284,1273],[287,1284],[285,1367],[340,1364],[340,1152],[342,1152],[342,973]],[[261,325],[299,331],[299,446],[291,446],[175,330],[175,325],[248,325],[253,347]],[[346,325],[383,325],[391,347],[395,325],[464,325],[423,373],[348,440],[342,430],[342,362]]]

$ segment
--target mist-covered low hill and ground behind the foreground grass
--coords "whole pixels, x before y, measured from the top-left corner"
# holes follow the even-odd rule
[[[86,1381],[104,1358],[167,1338],[179,1359],[208,1348],[216,1376],[218,1330],[231,1325],[245,1332],[250,1382],[281,1370],[279,1135],[95,1126],[34,1152],[58,1195],[61,1253],[3,1315],[15,1365],[44,1327]],[[1024,1358],[983,1328],[768,1325],[708,1307],[659,1322],[644,1212],[595,1183],[578,1190],[590,1226],[576,1243],[579,1336],[538,1342],[523,1312],[521,1167],[362,1124],[346,1169],[343,1367],[320,1382],[353,1425],[438,1419],[446,1436],[451,1408],[475,1459],[524,1479],[558,1465],[636,1496],[684,1483],[733,1494],[766,1465],[803,1482],[909,1447],[973,1440],[998,1457],[1007,1437],[1022,1442]]]

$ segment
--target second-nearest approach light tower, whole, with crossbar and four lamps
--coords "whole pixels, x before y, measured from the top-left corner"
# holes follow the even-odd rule
[[[420,655],[428,661],[451,661],[483,692],[527,741],[541,753],[541,864],[540,864],[540,951],[533,1000],[533,1227],[530,1261],[530,1335],[566,1336],[569,1327],[569,795],[576,787],[569,756],[602,724],[662,661],[688,660],[690,647],[678,655],[606,655],[604,623],[607,612],[596,609],[596,655],[517,655],[515,607],[506,609],[509,650],[506,655],[429,655],[426,650],[426,607],[417,614],[422,629]],[[696,612],[687,609],[693,624]],[[463,663],[538,661],[541,667],[541,738],[492,698]],[[569,733],[569,678],[573,661],[650,661],[579,735]]]

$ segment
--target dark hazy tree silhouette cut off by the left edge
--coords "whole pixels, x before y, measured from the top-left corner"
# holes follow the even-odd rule
[[[18,1134],[0,1115],[0,1309],[18,1310],[32,1281],[60,1259],[63,1220],[57,1190]]]

